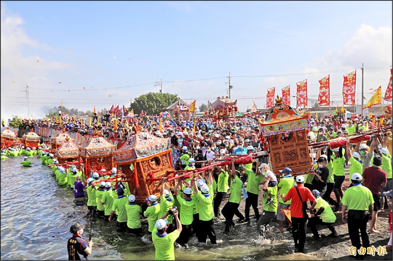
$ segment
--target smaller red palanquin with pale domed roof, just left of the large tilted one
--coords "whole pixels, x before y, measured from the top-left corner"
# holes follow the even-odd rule
[[[79,147],[80,161],[84,164],[84,173],[89,173],[90,169],[111,170],[113,167],[114,145],[109,143],[103,137],[94,135],[86,143]],[[85,177],[87,175],[84,175]]]

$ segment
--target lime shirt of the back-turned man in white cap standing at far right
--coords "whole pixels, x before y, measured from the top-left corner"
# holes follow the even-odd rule
[[[348,207],[348,210],[369,210],[369,206],[374,204],[372,193],[365,186],[357,185],[345,190],[341,200],[342,205]]]

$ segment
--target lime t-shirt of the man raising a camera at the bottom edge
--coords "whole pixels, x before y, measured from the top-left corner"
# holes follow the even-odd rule
[[[156,250],[156,260],[175,260],[175,249],[173,243],[179,237],[179,231],[175,230],[165,237],[159,237],[157,232],[151,233],[154,248]]]

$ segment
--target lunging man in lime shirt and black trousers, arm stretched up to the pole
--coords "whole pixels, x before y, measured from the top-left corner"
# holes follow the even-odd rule
[[[230,172],[230,178],[232,180],[229,190],[229,200],[226,202],[221,213],[225,217],[225,232],[230,232],[231,226],[235,226],[233,223],[233,216],[236,214],[239,216],[239,220],[244,220],[244,216],[239,212],[238,208],[242,201],[241,194],[244,189],[243,182],[240,180],[235,170],[235,159],[232,159],[232,166],[228,169]],[[245,195],[247,198],[247,194]]]

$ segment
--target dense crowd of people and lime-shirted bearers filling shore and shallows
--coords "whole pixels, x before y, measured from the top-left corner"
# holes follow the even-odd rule
[[[100,124],[94,121],[91,127],[78,123],[77,119],[62,121],[60,125],[59,122],[26,120],[24,126],[31,128],[46,124],[89,134],[98,131],[106,138],[117,135],[116,138],[126,140],[134,134],[132,127],[140,125],[142,131],[151,135],[170,138],[176,170],[200,168],[228,155],[269,152],[267,142],[260,135],[256,117],[230,122],[197,118],[194,124],[187,119],[166,117],[160,121],[160,117],[141,115],[132,122],[125,119],[114,122],[110,117],[100,121]],[[307,136],[309,143],[324,142],[388,126],[392,126],[392,119],[311,117]],[[45,152],[45,149],[49,148],[38,150],[42,151],[41,155],[38,154],[42,162],[56,164],[53,154]],[[6,152],[2,153],[5,155]],[[286,218],[281,210],[290,209],[290,229],[298,252],[304,252],[308,226],[312,240],[322,240],[318,225],[326,225],[331,231],[329,236],[336,237],[336,214],[340,212],[342,221],[348,223],[352,246],[368,247],[368,234],[379,233],[378,212],[389,207],[388,197],[392,194],[392,132],[377,133],[370,141],[347,142],[345,146],[334,149],[327,144],[311,149],[310,157],[314,161],[313,171],[305,176],[293,177],[290,168],[282,169],[281,175],[276,175],[271,171],[268,157],[264,157],[244,165],[232,160],[229,165],[212,167],[187,179],[178,179],[173,187],[169,187],[164,179],[160,197],[148,196],[146,209],[135,203],[136,191],[130,191],[128,184],[119,184],[114,188],[111,182],[100,181],[115,175],[116,168],[98,172],[92,170],[86,174],[81,171],[82,168],[75,166],[54,166],[54,172],[60,185],[69,185],[74,189],[76,198],[83,197],[86,192],[90,214],[96,214],[108,222],[115,219],[119,231],[151,235],[156,259],[160,260],[174,259],[174,247],[187,248],[193,236],[201,244],[207,242],[207,237],[212,244],[217,244],[215,224],[221,219],[225,220],[224,232],[230,235],[235,226],[235,215],[238,224],[250,222],[251,207],[257,221],[256,232],[262,238],[268,237],[269,224],[275,218],[279,223],[279,232],[284,231]],[[351,185],[343,191],[343,182],[348,176],[345,167],[349,167]],[[82,182],[83,175],[88,175],[86,184]],[[228,200],[222,207],[228,193]],[[263,199],[262,206],[258,205],[259,197]],[[239,206],[243,200],[245,210],[241,213]],[[142,226],[141,218],[148,219],[147,228]],[[371,224],[367,230],[368,220],[371,220]],[[73,237],[79,235],[80,230],[76,229],[76,226],[71,228]],[[392,234],[390,237],[388,247],[392,245]],[[90,249],[91,253],[89,244],[85,243],[84,249]],[[84,256],[89,251],[80,254]],[[362,259],[363,256],[357,255],[356,258]]]

